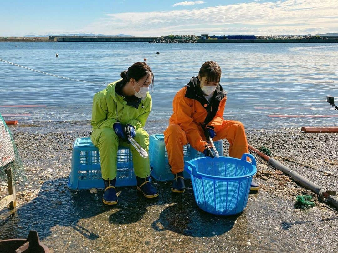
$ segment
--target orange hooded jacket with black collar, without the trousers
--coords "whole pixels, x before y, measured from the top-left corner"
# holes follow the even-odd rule
[[[203,96],[200,81],[192,77],[190,82],[180,89],[173,100],[173,114],[169,124],[178,124],[186,133],[190,145],[203,152],[206,145],[204,130],[208,126],[216,131],[222,125],[226,102],[226,92],[217,85],[210,102]]]

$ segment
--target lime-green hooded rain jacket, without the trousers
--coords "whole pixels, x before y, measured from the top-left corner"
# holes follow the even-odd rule
[[[113,124],[131,124],[137,130],[143,128],[151,111],[149,92],[145,99],[128,99],[116,92],[116,86],[122,79],[110,83],[107,88],[96,93],[93,98],[92,120],[93,130],[113,128]]]

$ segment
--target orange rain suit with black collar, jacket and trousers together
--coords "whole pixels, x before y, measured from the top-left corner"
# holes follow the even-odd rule
[[[228,140],[231,157],[241,159],[243,153],[249,152],[243,124],[239,121],[223,119],[226,92],[222,86],[218,84],[209,103],[199,85],[198,79],[193,77],[176,93],[173,100],[173,114],[164,132],[168,160],[173,174],[184,170],[184,145],[189,143],[200,152],[210,146],[204,136],[207,126],[216,132],[214,141]]]

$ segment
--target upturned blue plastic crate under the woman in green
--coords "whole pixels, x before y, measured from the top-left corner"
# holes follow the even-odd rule
[[[129,148],[119,147],[117,152],[116,186],[135,186],[136,177]],[[77,138],[73,146],[72,170],[68,179],[68,188],[103,189],[100,154],[90,138]]]

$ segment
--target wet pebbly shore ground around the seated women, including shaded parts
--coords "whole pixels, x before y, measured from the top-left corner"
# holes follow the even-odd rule
[[[37,230],[53,252],[337,252],[337,210],[295,209],[295,197],[311,192],[257,158],[261,189],[237,216],[200,210],[190,180],[183,195],[170,182],[156,182],[160,197],[149,200],[136,187],[118,188],[118,204],[102,203],[102,190],[67,188],[72,145],[88,137],[86,122],[11,127],[25,165],[17,185],[18,207],[0,211],[0,239],[25,238]],[[155,132],[149,131],[150,134]],[[330,190],[337,190],[338,134],[303,134],[299,129],[247,130],[248,142],[271,149],[272,157]],[[224,141],[224,155],[228,144]],[[263,180],[265,176],[267,180]],[[266,179],[265,178],[265,179]],[[0,196],[6,187],[0,182]]]

